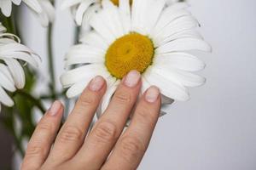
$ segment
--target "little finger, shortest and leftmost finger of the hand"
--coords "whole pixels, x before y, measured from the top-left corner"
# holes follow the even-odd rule
[[[21,169],[38,169],[43,165],[60,127],[62,114],[63,105],[55,101],[32,134]]]

